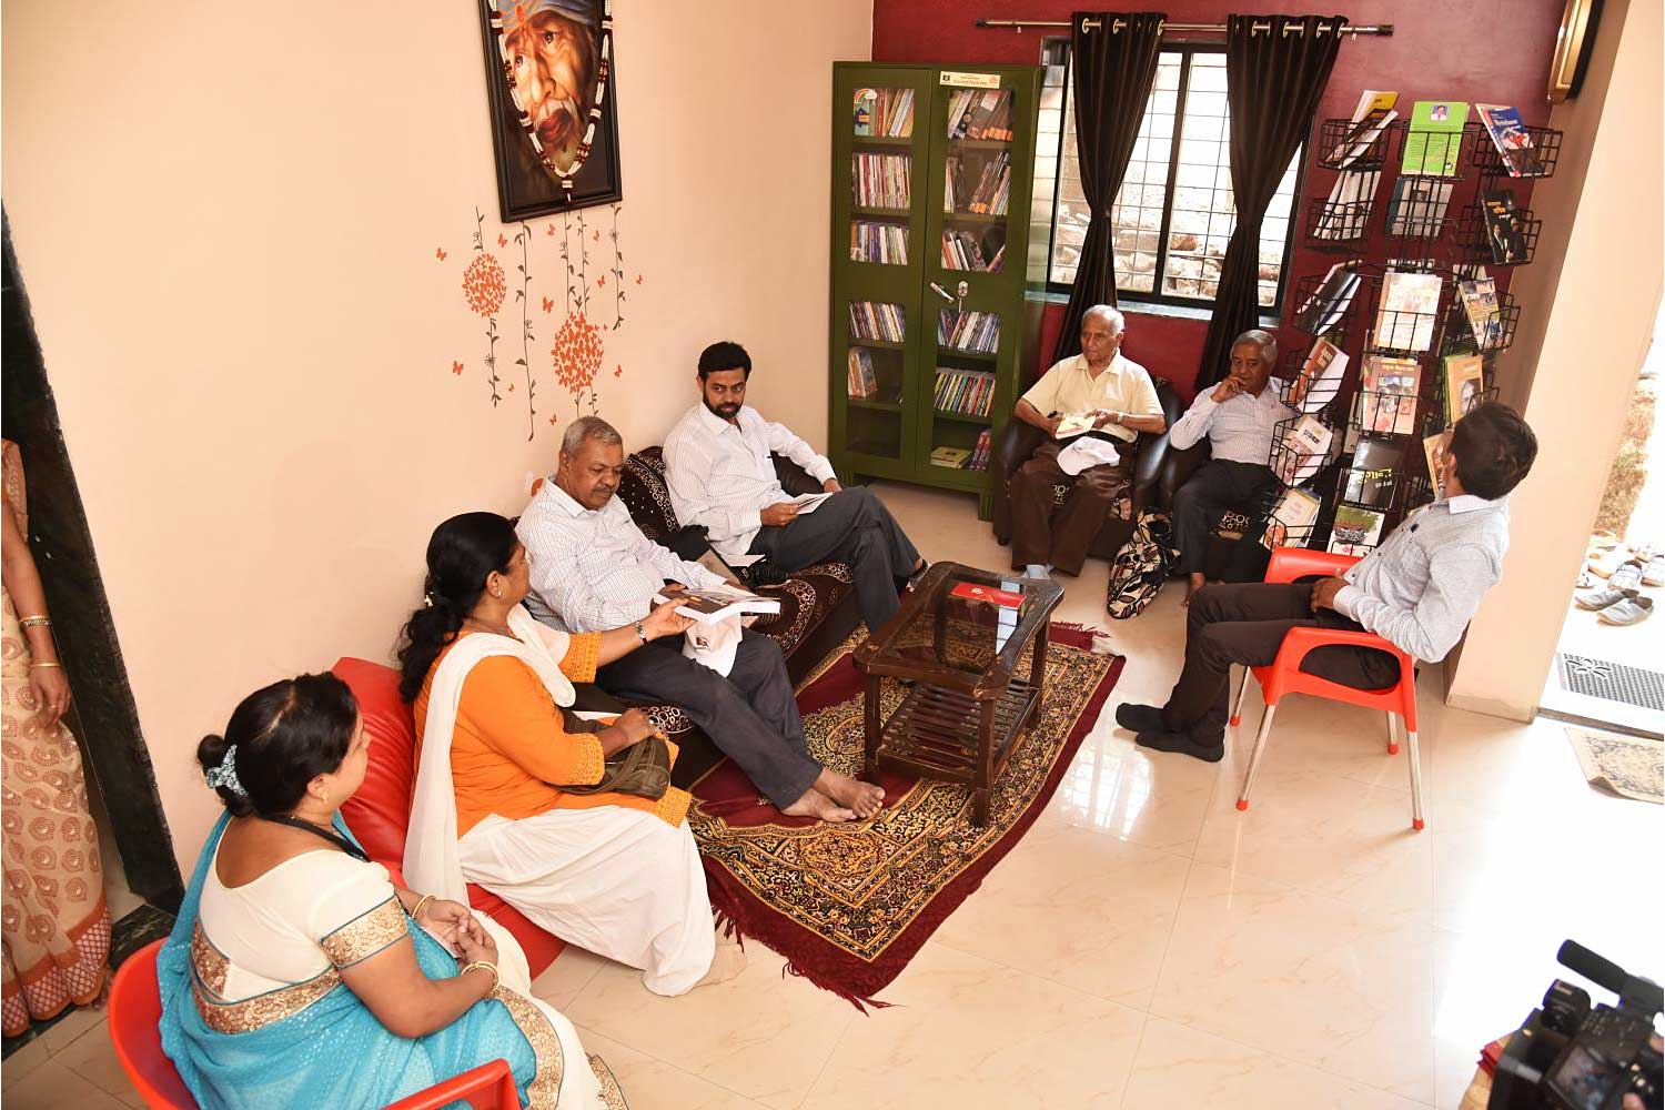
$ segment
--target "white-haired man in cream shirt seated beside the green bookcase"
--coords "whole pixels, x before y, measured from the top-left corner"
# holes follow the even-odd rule
[[[1087,548],[1112,511],[1131,513],[1132,451],[1137,433],[1167,429],[1162,403],[1146,368],[1121,354],[1124,320],[1109,305],[1094,305],[1081,318],[1081,354],[1054,363],[1019,398],[1012,416],[1056,436],[1069,414],[1092,414],[1096,431],[1122,448],[1116,463],[1099,463],[1071,476],[1057,456],[1067,446],[1049,438],[1017,468],[1007,484],[1012,503],[1012,567],[1027,577],[1051,571],[1079,574]],[[1069,498],[1056,526],[1052,486],[1069,483]]]

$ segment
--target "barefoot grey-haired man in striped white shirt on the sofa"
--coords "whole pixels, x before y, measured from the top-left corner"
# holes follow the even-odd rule
[[[666,582],[698,587],[723,579],[636,528],[614,496],[623,469],[623,439],[611,424],[581,416],[568,426],[559,468],[514,528],[531,559],[526,607],[569,632],[634,626],[643,646],[599,667],[596,684],[618,697],[679,706],[783,814],[823,820],[876,814],[884,790],[809,756],[774,641],[746,629],[728,676],[663,639],[649,641],[643,617],[653,596],[679,589]]]

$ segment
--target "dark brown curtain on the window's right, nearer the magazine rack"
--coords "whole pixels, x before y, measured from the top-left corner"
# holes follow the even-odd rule
[[[1340,15],[1225,17],[1225,100],[1232,113],[1237,230],[1220,263],[1214,316],[1197,366],[1199,389],[1225,376],[1232,339],[1259,320],[1260,221],[1289,160],[1312,126],[1345,23]]]

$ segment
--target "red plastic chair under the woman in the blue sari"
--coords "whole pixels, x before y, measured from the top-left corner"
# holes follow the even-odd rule
[[[162,992],[157,989],[157,952],[152,940],[117,969],[110,984],[110,1040],[122,1070],[152,1110],[196,1110],[196,1100],[162,1050]],[[491,1060],[416,1092],[388,1110],[438,1110],[456,1100],[476,1110],[519,1110],[519,1092],[508,1060]]]

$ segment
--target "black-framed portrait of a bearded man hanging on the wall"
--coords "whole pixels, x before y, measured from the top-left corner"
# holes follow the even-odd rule
[[[621,201],[613,0],[478,3],[503,221]]]

